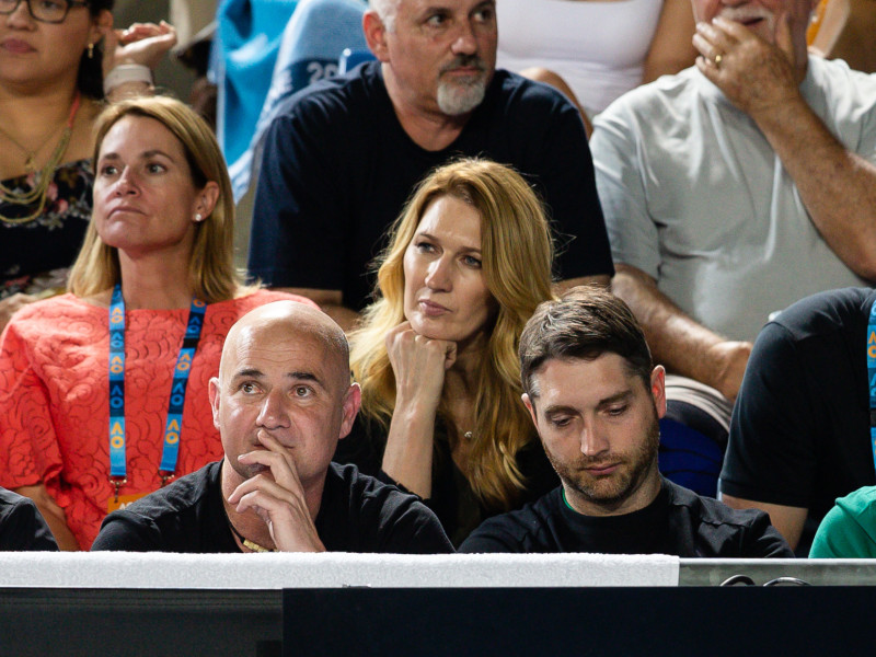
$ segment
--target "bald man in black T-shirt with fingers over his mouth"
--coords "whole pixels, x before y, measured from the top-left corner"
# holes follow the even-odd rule
[[[209,391],[224,459],[107,516],[92,550],[453,551],[418,498],[331,462],[360,391],[323,312],[295,301],[249,312]]]

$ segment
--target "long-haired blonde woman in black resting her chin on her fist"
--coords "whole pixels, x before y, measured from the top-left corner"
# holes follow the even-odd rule
[[[419,495],[459,544],[557,485],[522,405],[517,346],[551,298],[541,204],[510,169],[462,160],[416,189],[353,333],[360,419],[336,459]]]

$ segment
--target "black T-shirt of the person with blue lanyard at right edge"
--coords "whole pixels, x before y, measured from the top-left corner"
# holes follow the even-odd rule
[[[721,491],[809,509],[876,484],[866,334],[876,291],[846,288],[791,306],[758,335],[734,408]]]

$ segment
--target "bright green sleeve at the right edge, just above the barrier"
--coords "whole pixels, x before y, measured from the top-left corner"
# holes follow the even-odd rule
[[[809,558],[876,558],[876,486],[840,497],[818,528]]]

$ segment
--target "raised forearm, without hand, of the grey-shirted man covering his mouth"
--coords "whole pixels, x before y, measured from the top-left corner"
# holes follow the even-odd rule
[[[752,116],[833,252],[876,280],[876,166],[849,151],[800,97]]]

